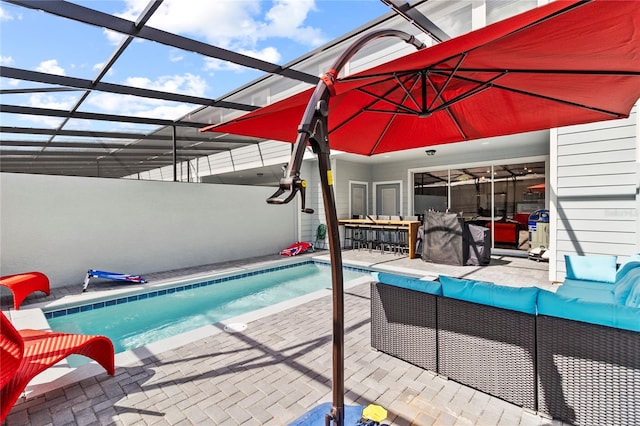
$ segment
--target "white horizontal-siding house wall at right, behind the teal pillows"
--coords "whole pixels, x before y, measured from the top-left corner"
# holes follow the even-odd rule
[[[638,108],[627,119],[559,128],[551,138],[550,278],[564,255],[640,251]]]

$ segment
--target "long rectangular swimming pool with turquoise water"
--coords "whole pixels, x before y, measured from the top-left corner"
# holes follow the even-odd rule
[[[369,271],[344,268],[344,281]],[[331,267],[303,262],[45,311],[54,331],[104,335],[116,353],[331,287]]]

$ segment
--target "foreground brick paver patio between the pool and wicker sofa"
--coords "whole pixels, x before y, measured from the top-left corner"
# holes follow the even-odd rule
[[[418,260],[418,262],[420,262]],[[561,425],[370,346],[369,286],[345,294],[345,402],[390,425]],[[331,297],[19,402],[10,425],[286,425],[331,401]]]

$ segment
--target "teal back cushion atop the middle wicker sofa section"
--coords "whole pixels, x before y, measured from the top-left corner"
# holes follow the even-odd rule
[[[445,275],[440,276],[440,282],[442,283],[442,294],[445,297],[527,314],[536,313],[538,287],[509,287]]]

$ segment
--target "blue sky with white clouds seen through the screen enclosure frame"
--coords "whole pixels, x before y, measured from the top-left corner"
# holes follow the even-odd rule
[[[147,0],[74,3],[135,21]],[[149,26],[280,65],[384,15],[380,0],[165,0]],[[122,35],[103,28],[0,2],[0,64],[93,79]],[[216,99],[263,73],[149,41],[136,41],[104,82]],[[0,78],[0,89],[40,87]],[[80,92],[3,94],[2,103],[66,109]],[[92,93],[81,110],[176,119],[194,105]],[[12,116],[12,117],[9,117]],[[55,126],[58,119],[24,118]],[[19,125],[15,114],[2,125]],[[10,121],[10,122],[9,122]],[[35,123],[31,123],[33,125]]]

